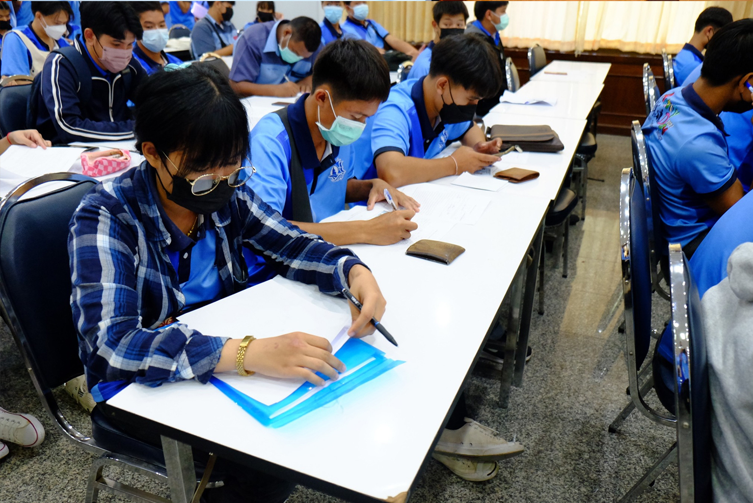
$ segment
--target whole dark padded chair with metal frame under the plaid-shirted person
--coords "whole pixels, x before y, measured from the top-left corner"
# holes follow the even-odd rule
[[[50,187],[51,182],[57,186]],[[165,503],[169,500],[103,477],[102,468],[112,465],[169,481],[172,489],[167,474],[178,473],[172,458],[166,468],[162,450],[123,434],[99,407],[91,416],[93,437],[82,434],[66,419],[52,392],[84,373],[70,306],[67,242],[71,216],[95,184],[93,178],[72,173],[43,175],[15,188],[0,204],[0,314],[50,419],[70,441],[99,455],[90,470],[85,501],[97,501],[103,490],[136,501]],[[47,193],[29,194],[32,189]],[[169,439],[163,439],[165,445]]]

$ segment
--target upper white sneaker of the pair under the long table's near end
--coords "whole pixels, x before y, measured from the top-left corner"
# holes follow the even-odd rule
[[[457,430],[445,429],[439,437],[437,453],[449,456],[466,456],[474,459],[495,460],[511,458],[523,453],[520,442],[508,442],[496,437],[497,431],[465,418],[465,425]]]

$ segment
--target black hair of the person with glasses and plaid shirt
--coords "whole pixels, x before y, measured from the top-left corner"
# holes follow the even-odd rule
[[[152,142],[160,157],[181,151],[181,175],[231,166],[248,156],[245,108],[211,66],[157,72],[139,86],[136,103],[136,148],[142,152],[143,142]]]

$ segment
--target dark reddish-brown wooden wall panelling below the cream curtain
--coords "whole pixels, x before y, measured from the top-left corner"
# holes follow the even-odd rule
[[[600,96],[602,113],[599,115],[599,133],[630,136],[630,123],[646,118],[643,101],[643,63],[648,62],[657,78],[659,89],[664,92],[664,72],[661,56],[654,54],[623,53],[619,50],[598,50],[582,53],[562,53],[547,50],[547,60],[568,59],[572,61],[611,62],[611,69],[604,81]],[[505,49],[505,56],[513,59],[520,75],[520,83],[529,79],[528,51]]]

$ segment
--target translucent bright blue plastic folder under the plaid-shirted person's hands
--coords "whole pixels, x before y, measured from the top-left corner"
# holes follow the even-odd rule
[[[243,410],[251,414],[264,426],[279,428],[280,426],[287,425],[288,422],[294,421],[301,416],[305,416],[312,410],[316,410],[319,407],[329,404],[331,401],[337,400],[337,398],[340,398],[358,386],[361,386],[361,384],[369,382],[374,377],[382,375],[387,370],[405,363],[404,361],[386,358],[384,352],[368,343],[364,343],[364,341],[360,339],[349,339],[343,344],[340,351],[335,353],[335,356],[340,358],[340,361],[342,361],[349,369],[358,367],[358,365],[364,364],[366,361],[368,361],[368,363],[358,370],[355,370],[355,372],[340,377],[339,380],[330,383],[329,386],[323,387],[304,401],[300,401],[300,399],[303,398],[306,393],[309,393],[312,389],[316,388],[316,386],[308,382],[303,383],[300,388],[292,392],[291,395],[288,395],[288,398],[285,398],[285,400],[272,405],[265,405],[260,401],[254,400],[248,395],[239,392],[237,389],[233,388],[233,386],[225,383],[223,380],[218,379],[218,377],[212,376],[209,382],[217,386],[227,398],[230,398],[230,400],[240,405]],[[325,381],[329,380],[327,376],[324,376],[321,373],[317,373],[317,375],[322,377]],[[297,401],[300,401],[300,403],[296,404]],[[291,404],[295,405],[290,407]]]

